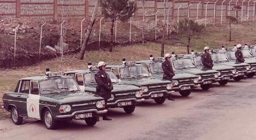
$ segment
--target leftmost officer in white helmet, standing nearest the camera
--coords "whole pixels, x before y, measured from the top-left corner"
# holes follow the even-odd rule
[[[97,83],[96,94],[100,97],[103,97],[105,100],[105,108],[107,108],[107,100],[111,98],[111,91],[113,90],[113,85],[110,77],[106,73],[107,64],[103,61],[98,63],[99,71],[95,74],[95,80]],[[111,118],[107,117],[107,114],[104,114],[103,120],[111,121]]]

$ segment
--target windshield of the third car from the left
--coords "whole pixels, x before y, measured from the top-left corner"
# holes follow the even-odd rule
[[[120,69],[121,78],[149,77],[145,66],[127,66]]]

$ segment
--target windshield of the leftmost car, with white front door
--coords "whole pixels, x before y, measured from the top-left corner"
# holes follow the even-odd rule
[[[66,91],[79,90],[77,82],[73,78],[56,78],[40,82],[41,94],[52,94]]]

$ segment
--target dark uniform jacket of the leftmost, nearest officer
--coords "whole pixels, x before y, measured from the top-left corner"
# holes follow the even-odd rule
[[[108,74],[103,70],[99,70],[98,73],[95,74],[95,80],[97,83],[96,94],[103,97],[105,100],[110,99],[113,85]]]

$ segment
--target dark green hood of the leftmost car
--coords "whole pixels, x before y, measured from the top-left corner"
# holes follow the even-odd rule
[[[42,95],[43,97],[47,97],[48,99],[53,99],[59,102],[59,104],[72,104],[77,102],[90,102],[90,101],[98,101],[103,100],[102,97],[91,94],[90,92],[82,92],[82,91],[75,91],[75,92],[65,92],[60,94],[45,94]]]

